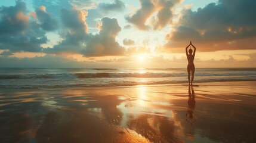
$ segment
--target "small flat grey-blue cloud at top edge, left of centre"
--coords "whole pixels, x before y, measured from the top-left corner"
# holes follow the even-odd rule
[[[114,3],[100,3],[98,4],[98,8],[101,11],[122,11],[125,9],[125,3],[119,0],[115,0]]]

